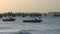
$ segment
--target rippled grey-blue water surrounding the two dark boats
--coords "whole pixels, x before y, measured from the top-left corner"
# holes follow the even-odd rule
[[[4,22],[0,18],[0,34],[59,34],[60,17],[40,17],[40,23],[24,23],[23,20],[34,19],[35,17],[14,17],[16,21]],[[37,17],[39,18],[39,17]]]

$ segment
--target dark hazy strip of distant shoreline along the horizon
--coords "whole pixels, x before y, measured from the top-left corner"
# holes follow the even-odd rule
[[[48,13],[12,13],[12,12],[7,12],[7,13],[1,13],[0,14],[0,17],[6,17],[6,16],[13,16],[13,17],[16,17],[16,16],[22,16],[22,17],[25,17],[25,16],[35,16],[35,17],[38,17],[38,16],[60,16],[60,12],[48,12]]]

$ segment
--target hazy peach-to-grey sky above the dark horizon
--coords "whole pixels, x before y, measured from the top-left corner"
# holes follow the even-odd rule
[[[60,0],[0,0],[2,12],[52,12],[60,11]]]

